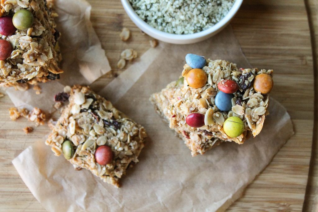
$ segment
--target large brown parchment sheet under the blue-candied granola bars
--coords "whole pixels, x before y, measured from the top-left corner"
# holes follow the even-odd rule
[[[107,85],[100,94],[142,124],[149,135],[139,163],[114,188],[87,170],[75,171],[44,140],[13,160],[22,180],[48,211],[223,211],[263,170],[293,134],[290,116],[276,100],[263,131],[243,145],[226,142],[204,155],[190,150],[155,113],[149,95],[181,75],[186,53],[248,63],[231,28],[192,45],[163,44]]]

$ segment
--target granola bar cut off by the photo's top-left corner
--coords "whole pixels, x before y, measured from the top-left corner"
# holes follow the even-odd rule
[[[3,43],[8,41],[13,48],[8,58],[0,60],[0,85],[10,87],[59,79],[63,71],[59,68],[60,33],[54,21],[58,15],[53,11],[53,0],[3,0],[0,8],[1,18],[11,18],[13,24],[15,18],[26,21],[26,15],[33,20],[22,28],[15,25],[19,29],[9,35],[1,34]],[[24,16],[15,17],[17,13]],[[9,24],[10,21],[4,27]]]

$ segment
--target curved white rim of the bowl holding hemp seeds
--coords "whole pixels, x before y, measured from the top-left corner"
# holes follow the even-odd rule
[[[190,39],[201,38],[201,37],[207,36],[207,35],[215,32],[215,31],[220,30],[224,25],[226,25],[232,19],[232,17],[234,17],[234,15],[239,10],[241,4],[243,3],[243,0],[235,0],[234,4],[233,4],[232,8],[229,10],[229,12],[218,23],[214,24],[210,28],[203,30],[203,31],[200,31],[200,32],[195,32],[193,34],[186,34],[186,35],[172,34],[172,33],[157,30],[156,28],[147,24],[144,20],[142,20],[137,15],[134,8],[129,3],[129,0],[121,0],[121,3],[123,5],[124,9],[126,9],[126,12],[128,13],[128,15],[132,19],[137,21],[138,24],[140,24],[143,28],[146,28],[149,31],[152,31],[153,33],[155,33],[161,37],[164,37],[164,38],[177,39],[177,40],[190,40]]]

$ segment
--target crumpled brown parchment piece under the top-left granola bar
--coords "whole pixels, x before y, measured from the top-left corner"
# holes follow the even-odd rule
[[[6,89],[17,107],[31,110],[36,106],[50,113],[54,110],[54,95],[65,85],[89,85],[111,70],[90,22],[91,5],[85,0],[55,0],[55,8],[59,14],[57,29],[62,34],[59,45],[64,73],[60,80],[38,84],[42,88],[39,95],[32,88],[25,92]]]

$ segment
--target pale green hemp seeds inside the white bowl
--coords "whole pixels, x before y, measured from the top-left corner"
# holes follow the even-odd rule
[[[173,34],[193,34],[218,23],[234,0],[129,0],[150,26]]]

